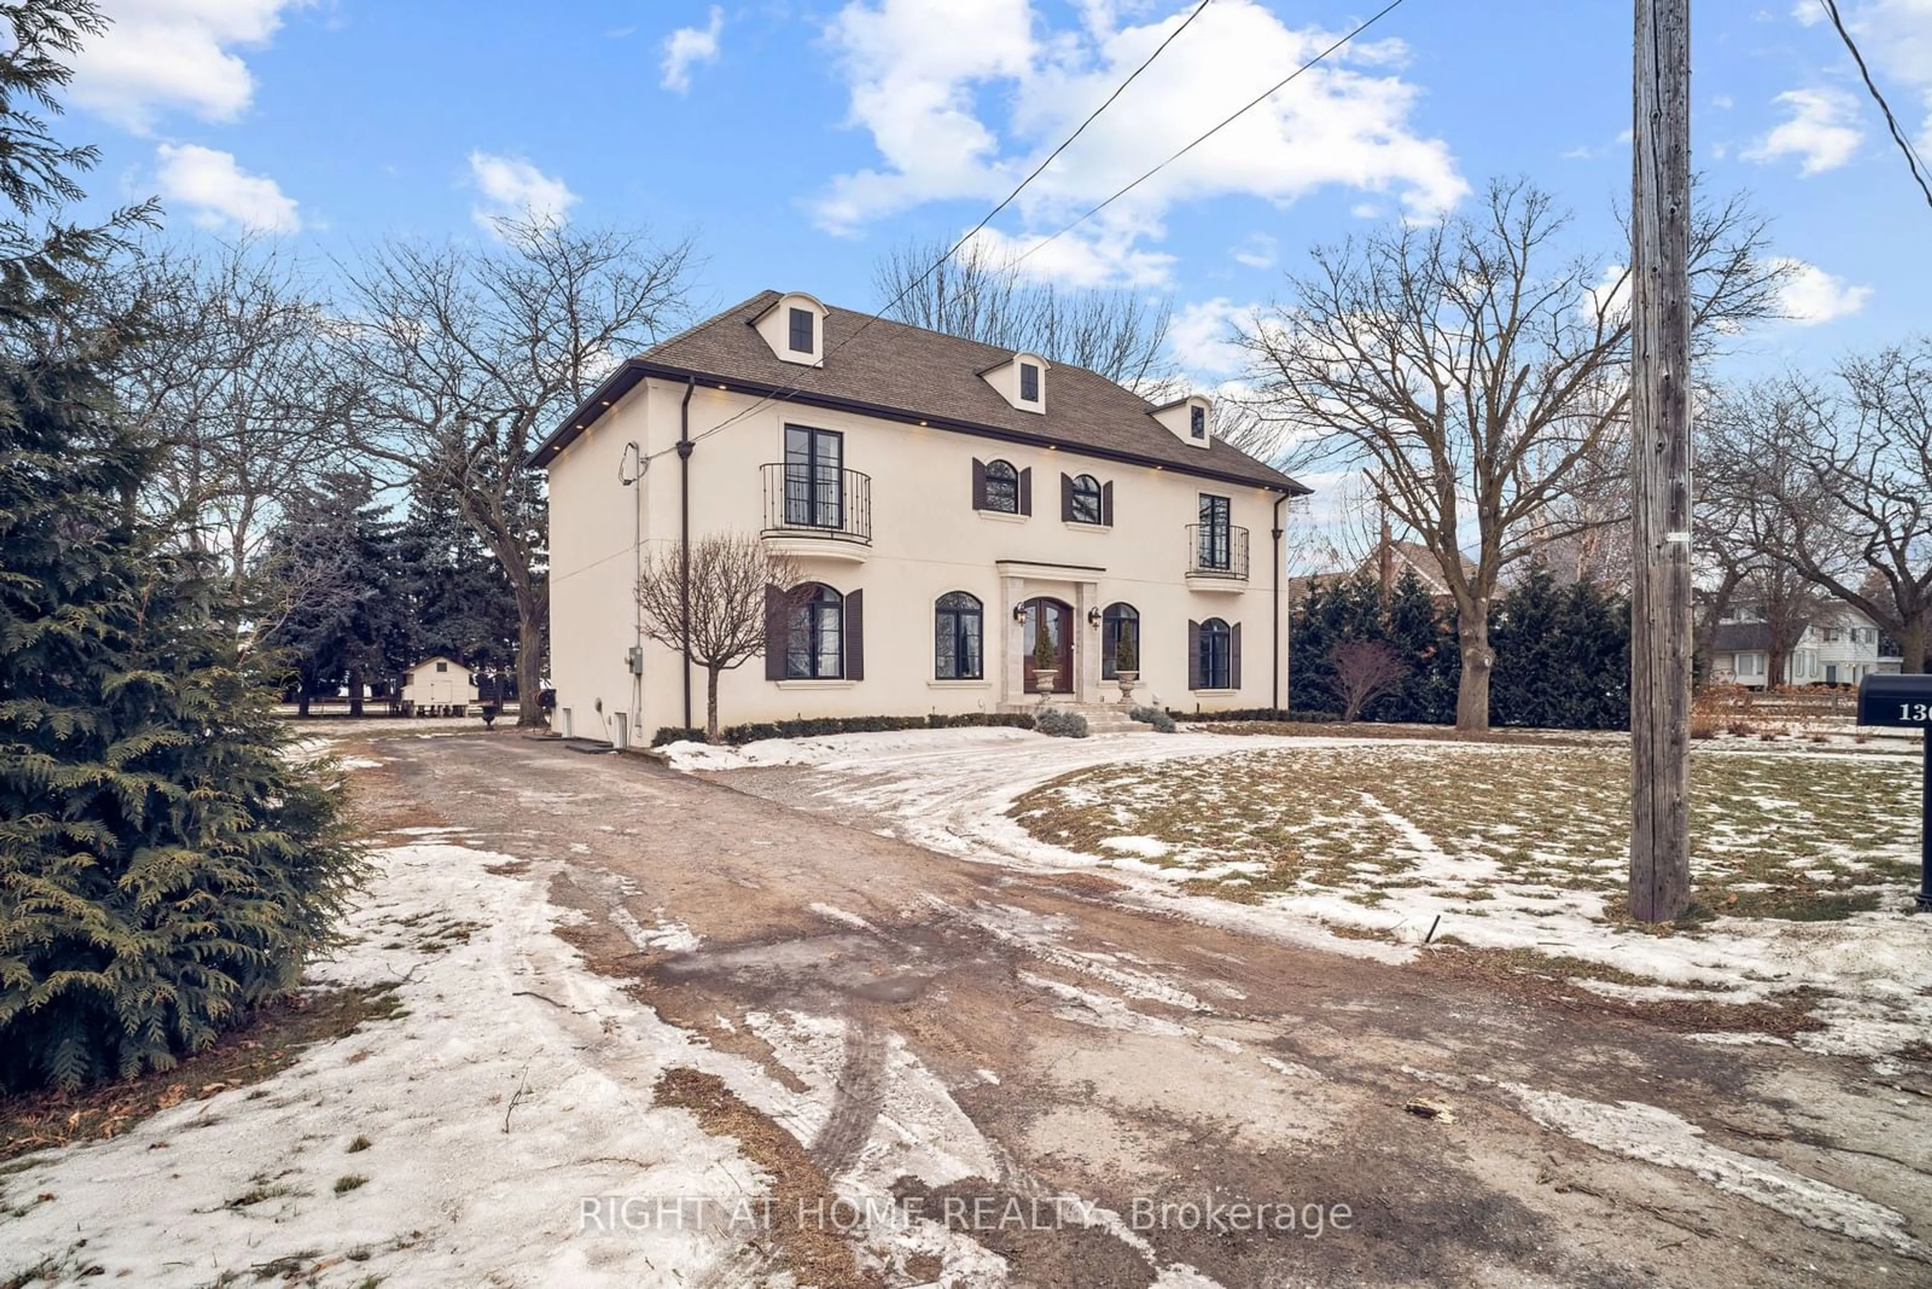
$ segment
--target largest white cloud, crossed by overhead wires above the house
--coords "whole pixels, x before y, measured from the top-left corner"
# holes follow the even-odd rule
[[[929,201],[997,201],[1194,6],[1165,0],[1173,12],[1140,25],[1119,14],[1150,6],[1074,8],[1076,25],[1055,27],[1030,0],[848,0],[827,43],[850,89],[848,122],[881,162],[837,176],[815,203],[819,224],[856,232]],[[1028,187],[1018,222],[1030,234],[1095,205],[1335,35],[1289,27],[1258,0],[1209,6]],[[1468,186],[1447,143],[1410,126],[1420,91],[1401,77],[1405,52],[1379,41],[1335,54],[1109,207],[1095,242],[1159,240],[1175,205],[1231,193],[1287,205],[1339,186],[1395,197],[1416,216],[1453,207]]]

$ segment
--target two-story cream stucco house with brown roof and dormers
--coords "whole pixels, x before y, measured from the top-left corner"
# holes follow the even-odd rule
[[[556,729],[703,723],[703,671],[645,640],[641,555],[759,533],[804,570],[724,723],[1283,700],[1281,526],[1300,483],[1043,361],[763,292],[618,367],[531,462],[551,483]],[[696,692],[696,696],[694,696]]]

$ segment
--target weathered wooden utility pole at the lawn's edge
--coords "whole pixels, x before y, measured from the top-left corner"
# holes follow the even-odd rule
[[[1690,906],[1690,0],[1636,0],[1631,916]]]

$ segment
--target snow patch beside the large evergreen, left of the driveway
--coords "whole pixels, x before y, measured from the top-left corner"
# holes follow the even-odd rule
[[[717,1233],[582,1229],[580,1196],[761,1189],[730,1138],[651,1105],[684,1036],[549,933],[539,885],[489,872],[512,856],[423,841],[371,858],[381,877],[350,920],[355,941],[309,980],[396,984],[383,945],[413,947],[460,910],[468,939],[410,955],[396,986],[408,1015],[114,1140],[33,1156],[6,1190],[54,1198],[8,1221],[0,1268],[58,1258],[79,1231],[102,1283],[205,1285],[298,1250],[367,1252],[346,1264],[355,1279],[433,1287],[628,1289],[717,1272],[734,1250]],[[367,1150],[346,1154],[355,1136]],[[352,1173],[367,1181],[334,1194]],[[269,1198],[230,1204],[249,1192]]]

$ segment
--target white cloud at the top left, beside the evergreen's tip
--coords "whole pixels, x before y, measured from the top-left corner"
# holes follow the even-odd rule
[[[164,110],[226,122],[255,99],[234,52],[261,48],[307,0],[106,0],[106,35],[73,60],[75,104],[149,133]]]

